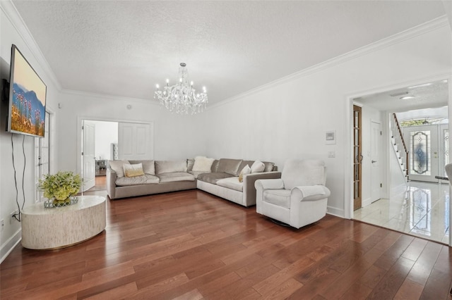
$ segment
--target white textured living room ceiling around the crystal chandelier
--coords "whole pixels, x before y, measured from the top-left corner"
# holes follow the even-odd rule
[[[184,62],[210,103],[445,14],[441,1],[13,4],[64,89],[153,99]]]

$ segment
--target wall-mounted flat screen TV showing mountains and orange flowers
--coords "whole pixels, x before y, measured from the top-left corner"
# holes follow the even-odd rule
[[[11,46],[8,132],[44,137],[47,86],[23,57]]]

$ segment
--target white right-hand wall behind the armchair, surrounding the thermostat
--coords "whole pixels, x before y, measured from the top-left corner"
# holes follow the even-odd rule
[[[275,161],[280,169],[287,158],[321,158],[331,189],[328,212],[346,216],[352,180],[350,95],[450,75],[451,51],[446,23],[210,107],[204,115],[208,156]],[[325,144],[327,130],[336,131],[335,145]],[[328,151],[335,151],[335,158],[328,158]]]

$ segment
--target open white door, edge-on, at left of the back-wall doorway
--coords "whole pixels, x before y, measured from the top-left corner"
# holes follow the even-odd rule
[[[83,187],[86,190],[94,187],[96,184],[95,175],[95,123],[83,120],[83,144],[82,144],[82,165],[83,165]]]

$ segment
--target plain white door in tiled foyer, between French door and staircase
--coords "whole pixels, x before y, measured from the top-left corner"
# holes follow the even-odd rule
[[[371,122],[371,201],[381,198],[381,124]]]

